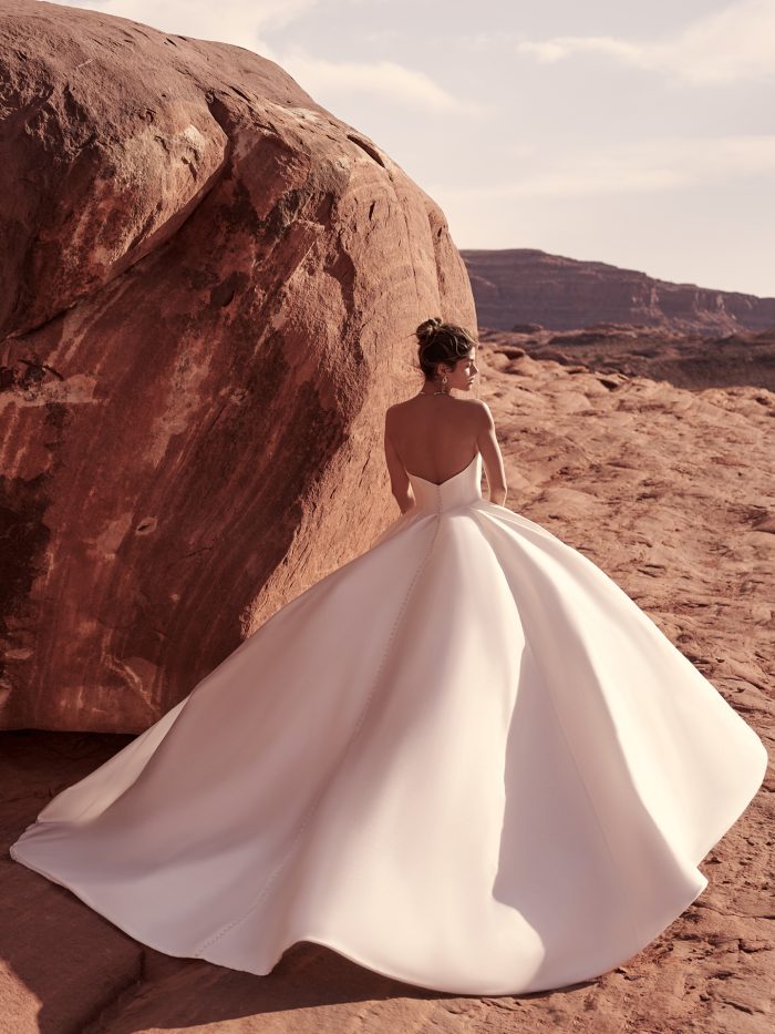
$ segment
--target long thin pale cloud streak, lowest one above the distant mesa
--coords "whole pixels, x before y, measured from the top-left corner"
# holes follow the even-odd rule
[[[430,184],[425,188],[441,203],[680,190],[711,181],[772,175],[775,134],[652,137],[564,152],[544,161],[538,154],[530,165],[524,173],[516,170],[500,185],[457,188]]]

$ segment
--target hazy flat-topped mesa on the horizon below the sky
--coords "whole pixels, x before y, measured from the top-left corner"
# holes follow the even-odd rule
[[[711,335],[775,328],[775,298],[671,284],[536,248],[464,249],[461,255],[478,324],[494,330],[531,323],[567,330],[603,320]]]

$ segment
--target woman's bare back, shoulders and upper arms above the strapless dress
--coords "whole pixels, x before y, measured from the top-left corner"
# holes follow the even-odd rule
[[[506,481],[493,418],[479,399],[418,395],[385,413],[385,452],[393,494],[400,504],[407,473],[442,484],[482,453],[487,484],[505,498]],[[402,506],[403,509],[403,506]]]

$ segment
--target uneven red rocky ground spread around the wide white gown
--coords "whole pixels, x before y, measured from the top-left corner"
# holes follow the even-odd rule
[[[772,756],[775,395],[691,390],[497,344],[480,346],[479,366],[506,458],[507,504],[610,574]],[[386,522],[388,490],[375,480],[372,492]],[[128,739],[3,734],[4,843]],[[265,977],[168,958],[3,853],[0,1013],[13,1034],[768,1034],[774,790],[771,768],[701,863],[707,889],[638,956],[595,981],[521,996],[425,991],[308,942]]]

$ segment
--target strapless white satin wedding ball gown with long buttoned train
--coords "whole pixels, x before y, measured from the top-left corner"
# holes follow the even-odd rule
[[[707,885],[753,729],[480,457],[54,797],[12,857],[169,955],[461,994],[626,962]]]

